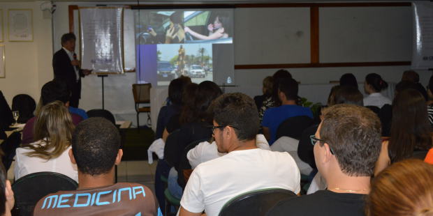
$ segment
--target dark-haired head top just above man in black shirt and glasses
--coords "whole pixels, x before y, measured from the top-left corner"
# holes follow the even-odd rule
[[[354,86],[340,86],[334,95],[335,104],[364,105],[364,96]]]

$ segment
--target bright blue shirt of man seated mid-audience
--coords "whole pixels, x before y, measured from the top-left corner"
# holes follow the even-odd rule
[[[283,123],[287,118],[295,116],[309,116],[313,118],[313,113],[308,107],[301,107],[298,105],[281,105],[279,107],[272,107],[266,109],[263,115],[262,126],[269,128],[270,130],[270,141],[269,145],[272,145],[277,138],[278,126]]]

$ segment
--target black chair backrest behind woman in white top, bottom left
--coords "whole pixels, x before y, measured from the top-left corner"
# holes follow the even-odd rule
[[[12,215],[33,215],[34,206],[43,196],[77,187],[75,180],[61,173],[38,172],[23,176],[12,185],[15,196]]]

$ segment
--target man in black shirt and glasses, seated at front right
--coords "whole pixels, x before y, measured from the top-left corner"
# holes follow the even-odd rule
[[[311,136],[327,190],[279,202],[267,215],[364,215],[370,176],[381,151],[381,122],[373,111],[335,105]]]

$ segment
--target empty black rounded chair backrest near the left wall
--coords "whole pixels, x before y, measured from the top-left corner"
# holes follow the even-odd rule
[[[33,118],[35,109],[36,102],[30,95],[15,95],[12,99],[12,110],[20,111],[18,123],[27,123],[30,118]]]

